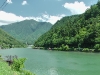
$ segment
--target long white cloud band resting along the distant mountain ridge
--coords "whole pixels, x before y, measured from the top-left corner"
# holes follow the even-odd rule
[[[52,16],[49,14],[42,14],[42,16],[37,16],[37,17],[34,17],[34,16],[23,17],[23,16],[17,16],[13,13],[0,11],[0,25],[7,25],[7,24],[14,23],[14,22],[30,20],[30,19],[34,19],[36,21],[41,21],[41,22],[50,22],[54,24],[57,20],[60,20],[64,16],[65,16],[64,14],[56,15],[56,16]]]

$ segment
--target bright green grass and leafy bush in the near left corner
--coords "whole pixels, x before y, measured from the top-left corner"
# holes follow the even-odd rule
[[[24,69],[25,58],[14,59],[12,65],[8,65],[0,55],[0,75],[35,75]]]

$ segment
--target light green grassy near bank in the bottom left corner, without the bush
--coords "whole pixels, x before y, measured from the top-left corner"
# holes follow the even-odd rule
[[[35,75],[28,70],[12,70],[11,66],[9,66],[0,56],[0,75]]]

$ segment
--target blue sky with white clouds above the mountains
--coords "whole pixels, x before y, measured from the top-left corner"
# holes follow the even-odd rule
[[[82,14],[98,0],[0,0],[0,25],[34,19],[55,24],[64,16]]]

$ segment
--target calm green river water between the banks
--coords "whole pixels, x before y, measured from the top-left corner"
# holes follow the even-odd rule
[[[0,54],[27,58],[25,68],[36,75],[100,75],[100,54],[16,48]]]

